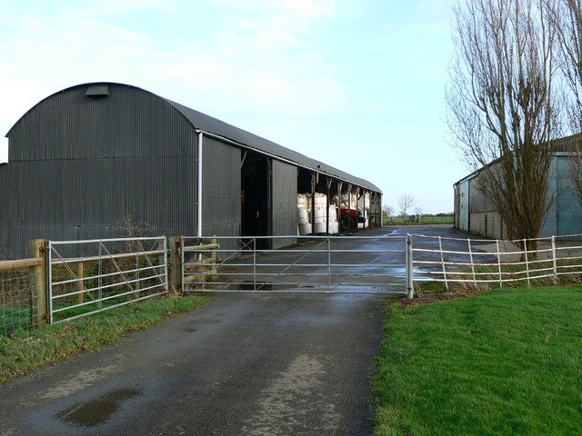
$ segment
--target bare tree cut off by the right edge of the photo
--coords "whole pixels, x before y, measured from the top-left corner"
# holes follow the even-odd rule
[[[557,32],[561,72],[567,84],[564,98],[567,119],[573,137],[565,148],[572,152],[569,159],[571,179],[582,204],[582,0],[548,2],[552,25]]]

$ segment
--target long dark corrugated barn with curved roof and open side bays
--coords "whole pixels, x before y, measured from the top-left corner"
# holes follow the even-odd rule
[[[344,209],[344,230],[354,216],[380,225],[375,184],[128,84],[50,95],[6,137],[4,257],[23,255],[36,238],[123,237],[129,222],[166,235],[296,235],[298,198],[311,206],[304,233],[331,233],[329,215]],[[323,222],[316,197],[326,204]]]

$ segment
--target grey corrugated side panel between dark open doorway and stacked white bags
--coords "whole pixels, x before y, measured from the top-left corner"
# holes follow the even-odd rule
[[[296,166],[272,161],[272,213],[273,235],[297,233],[297,168]],[[296,239],[276,239],[273,248],[296,243]]]

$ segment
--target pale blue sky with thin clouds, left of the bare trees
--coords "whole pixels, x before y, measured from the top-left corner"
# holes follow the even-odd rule
[[[468,171],[444,122],[452,0],[0,0],[4,135],[89,82],[146,89],[453,210]]]

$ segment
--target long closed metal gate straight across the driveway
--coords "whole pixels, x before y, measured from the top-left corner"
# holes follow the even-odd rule
[[[279,241],[294,243],[280,248]],[[182,237],[185,292],[411,294],[408,236]]]

